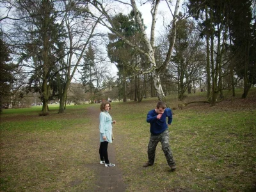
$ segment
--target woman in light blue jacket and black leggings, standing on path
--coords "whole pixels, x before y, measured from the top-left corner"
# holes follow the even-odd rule
[[[109,109],[111,109],[108,101],[103,101],[100,105],[100,164],[105,164],[106,167],[115,166],[113,163],[109,163],[108,159],[108,143],[112,143],[112,124],[116,121],[112,121],[112,117],[109,115]]]

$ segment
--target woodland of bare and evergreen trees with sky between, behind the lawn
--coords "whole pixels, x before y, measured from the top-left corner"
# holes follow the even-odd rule
[[[1,106],[20,107],[36,97],[47,115],[56,100],[63,113],[70,95],[89,102],[141,102],[171,94],[182,101],[195,92],[207,92],[205,102],[214,106],[223,90],[234,97],[235,89],[243,88],[246,98],[256,83],[255,0],[0,4]],[[146,4],[151,26],[138,9]],[[159,4],[168,9],[160,12]]]

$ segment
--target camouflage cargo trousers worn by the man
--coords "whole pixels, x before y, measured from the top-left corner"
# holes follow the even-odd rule
[[[150,135],[150,140],[148,143],[148,164],[154,164],[155,162],[155,155],[156,155],[156,147],[157,144],[161,142],[162,144],[162,150],[164,152],[164,155],[166,157],[166,161],[169,166],[172,166],[175,164],[175,161],[173,160],[172,156],[172,150],[170,148],[169,144],[169,131],[166,129],[166,131],[162,132],[161,134]]]

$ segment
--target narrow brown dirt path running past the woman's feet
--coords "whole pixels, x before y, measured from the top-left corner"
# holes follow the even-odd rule
[[[90,113],[90,118],[92,119],[92,126],[99,127],[99,109],[90,107],[88,109],[88,113]],[[92,138],[97,138],[97,140],[93,141],[95,150],[99,151],[99,129],[93,129]],[[115,191],[115,192],[123,192],[126,187],[124,184],[124,179],[121,170],[118,168],[118,164],[115,161],[115,143],[109,143],[108,145],[108,156],[109,161],[111,163],[116,164],[115,167],[107,168],[104,164],[99,164],[99,161],[96,161],[92,164],[86,164],[86,166],[90,166],[97,175],[97,187],[93,189],[93,191]]]

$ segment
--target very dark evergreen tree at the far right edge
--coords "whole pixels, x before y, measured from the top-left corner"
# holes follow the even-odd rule
[[[252,15],[252,0],[236,1],[231,4],[230,28],[232,51],[235,55],[235,71],[243,78],[246,98],[252,84],[256,83],[256,19]]]

